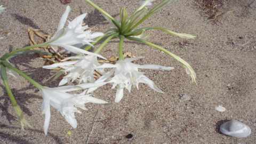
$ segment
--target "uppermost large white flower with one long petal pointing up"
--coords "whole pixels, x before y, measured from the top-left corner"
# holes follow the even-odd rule
[[[66,28],[63,28],[67,18],[68,18],[68,13],[70,12],[70,6],[67,6],[67,9],[65,13],[62,15],[57,33],[47,41],[47,45],[51,46],[62,46],[66,50],[74,52],[74,53],[79,53],[79,54],[90,54],[90,55],[97,55],[97,57],[103,58],[99,54],[91,53],[82,49],[79,49],[75,46],[71,46],[74,44],[88,44],[92,45],[90,42],[93,42],[91,39],[102,36],[103,33],[91,33],[91,30],[86,30],[88,27],[84,26],[83,27],[83,19],[86,17],[87,13],[84,13],[82,15],[79,15],[77,18],[75,18],[73,21],[68,21],[69,25]]]

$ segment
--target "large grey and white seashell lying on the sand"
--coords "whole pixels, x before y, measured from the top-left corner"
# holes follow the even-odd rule
[[[220,131],[223,134],[235,138],[244,138],[251,134],[251,129],[249,126],[236,120],[231,120],[226,123],[223,123],[220,126]]]

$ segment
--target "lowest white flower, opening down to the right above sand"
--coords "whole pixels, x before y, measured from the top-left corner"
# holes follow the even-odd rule
[[[86,108],[84,107],[84,103],[107,103],[106,101],[89,97],[89,95],[85,95],[86,91],[78,95],[66,93],[67,91],[82,90],[91,86],[101,86],[104,84],[106,83],[80,84],[76,86],[60,86],[56,88],[49,88],[43,86],[40,90],[40,93],[42,94],[42,97],[44,99],[41,107],[42,114],[45,114],[44,133],[47,134],[47,130],[50,124],[50,105],[58,109],[61,115],[65,117],[66,121],[71,126],[76,128],[77,121],[75,119],[74,113],[81,113],[81,111],[79,111],[77,107],[86,110]]]

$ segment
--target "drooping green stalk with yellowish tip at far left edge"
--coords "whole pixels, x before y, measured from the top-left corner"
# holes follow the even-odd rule
[[[7,81],[7,75],[6,75],[6,67],[2,65],[1,67],[1,78],[3,79],[3,82],[4,82],[4,86],[5,86],[5,89],[7,91],[7,94],[9,95],[9,98],[12,102],[12,105],[18,115],[18,120],[19,122],[21,123],[21,129],[24,130],[23,126],[24,125],[29,125],[28,122],[26,121],[25,117],[23,116],[22,114],[22,110],[20,109],[17,101],[15,100],[14,98],[14,95],[12,93],[12,90],[10,89],[10,86],[9,86],[9,83]],[[29,125],[30,126],[30,125]],[[30,126],[31,127],[31,126]]]

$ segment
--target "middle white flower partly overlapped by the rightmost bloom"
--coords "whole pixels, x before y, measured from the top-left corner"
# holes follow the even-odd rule
[[[84,81],[84,83],[87,83],[87,81],[89,81],[90,83],[94,83],[94,69],[92,69],[92,67],[100,66],[99,62],[97,61],[97,57],[95,57],[94,55],[77,56],[66,58],[63,61],[69,59],[78,60],[54,63],[53,65],[43,66],[43,68],[54,69],[57,67],[61,67],[63,69],[62,71],[64,71],[65,73],[69,73],[62,78],[59,86],[66,84],[70,80],[74,82],[75,79],[78,79],[79,84],[82,81]],[[99,69],[99,71],[101,74],[106,73],[103,69]]]

